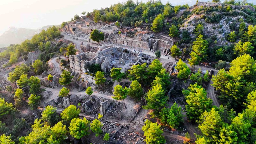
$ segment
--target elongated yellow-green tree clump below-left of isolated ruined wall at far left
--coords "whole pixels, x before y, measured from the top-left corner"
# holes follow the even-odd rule
[[[29,71],[29,67],[25,64],[17,65],[13,71],[9,73],[7,77],[8,81],[15,82],[19,77]]]

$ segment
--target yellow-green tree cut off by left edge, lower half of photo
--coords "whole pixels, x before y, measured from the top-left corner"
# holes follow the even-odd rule
[[[8,114],[15,112],[16,109],[12,103],[7,103],[3,98],[0,98],[0,120],[5,118]]]

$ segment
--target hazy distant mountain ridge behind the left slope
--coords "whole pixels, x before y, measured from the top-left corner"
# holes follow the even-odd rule
[[[39,28],[39,29],[10,27],[9,30],[5,31],[0,36],[0,48],[7,47],[10,44],[21,43],[26,39],[31,39],[36,33],[39,33],[42,29],[47,29],[50,26],[60,26],[60,25],[48,25],[48,26],[43,26],[42,28]]]

